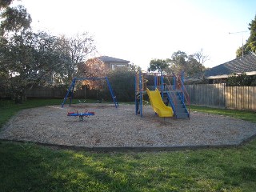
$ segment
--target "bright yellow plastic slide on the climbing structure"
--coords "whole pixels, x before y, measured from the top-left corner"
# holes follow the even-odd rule
[[[146,93],[149,95],[151,106],[155,113],[161,118],[169,118],[174,116],[174,111],[170,106],[166,106],[162,102],[162,98],[158,89],[149,90],[146,88]]]

